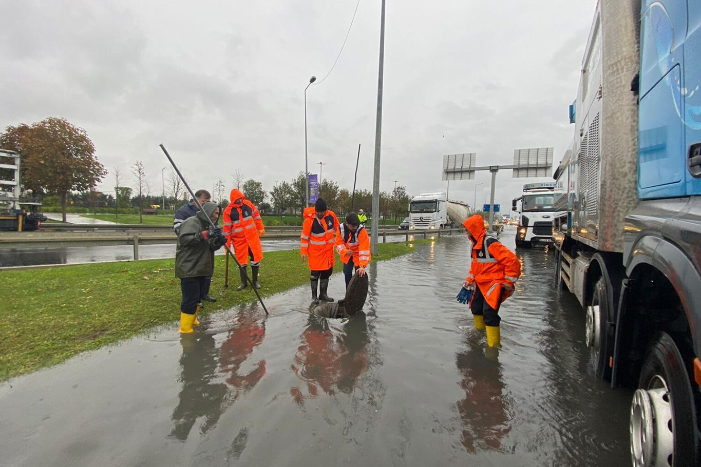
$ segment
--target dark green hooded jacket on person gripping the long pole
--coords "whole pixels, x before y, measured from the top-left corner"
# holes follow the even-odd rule
[[[175,250],[175,277],[209,277],[214,272],[214,252],[221,247],[215,246],[214,239],[205,240],[202,232],[210,228],[207,218],[217,207],[217,203],[205,202],[196,216],[180,224]]]

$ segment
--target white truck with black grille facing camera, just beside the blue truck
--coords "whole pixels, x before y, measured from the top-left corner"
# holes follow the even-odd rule
[[[516,247],[552,244],[552,220],[564,213],[555,211],[554,182],[526,183],[523,194],[512,201],[511,209],[520,214]],[[518,202],[521,202],[519,211]]]

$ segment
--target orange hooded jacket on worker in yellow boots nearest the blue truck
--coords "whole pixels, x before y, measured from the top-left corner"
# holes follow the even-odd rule
[[[465,281],[470,284],[475,282],[489,306],[498,309],[499,304],[510,295],[506,291],[502,292],[502,284],[516,283],[521,275],[521,263],[513,251],[496,238],[486,235],[482,216],[476,214],[463,222],[463,225],[477,240],[472,245],[472,263]],[[472,295],[473,298],[474,296]]]

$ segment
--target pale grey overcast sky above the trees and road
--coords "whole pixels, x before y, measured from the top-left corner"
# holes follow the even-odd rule
[[[327,74],[357,0],[0,1],[0,129],[67,118],[112,172],[146,164],[161,193],[165,144],[192,182],[263,182],[304,170],[304,87]],[[307,91],[310,172],[372,189],[380,0],[360,0],[346,48]],[[381,190],[444,191],[442,155],[510,164],[515,148],[573,137],[595,0],[387,0]],[[101,188],[112,190],[112,174]],[[455,181],[477,204],[489,172]],[[131,176],[129,177],[131,182]],[[497,176],[497,202],[523,183]],[[368,207],[369,208],[369,207]]]

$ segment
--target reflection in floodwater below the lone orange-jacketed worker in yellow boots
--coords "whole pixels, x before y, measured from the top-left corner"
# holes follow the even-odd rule
[[[465,348],[455,363],[465,398],[458,400],[461,442],[468,452],[501,449],[501,440],[511,431],[509,402],[505,391],[499,350],[484,347],[477,330],[465,335]]]

